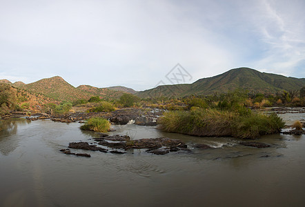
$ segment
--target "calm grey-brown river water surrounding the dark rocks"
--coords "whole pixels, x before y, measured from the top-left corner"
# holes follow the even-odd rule
[[[295,115],[282,117],[290,120]],[[305,114],[298,115],[301,119]],[[305,136],[270,135],[270,148],[240,146],[230,137],[192,137],[155,126],[114,126],[132,139],[169,137],[192,153],[124,155],[74,150],[94,143],[81,124],[26,119],[2,121],[0,206],[305,206]],[[208,150],[193,144],[208,144]]]

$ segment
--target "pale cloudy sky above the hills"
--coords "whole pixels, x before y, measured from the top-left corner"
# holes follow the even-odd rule
[[[304,0],[0,0],[0,79],[146,90],[248,67],[305,77]],[[179,72],[178,72],[179,73]]]

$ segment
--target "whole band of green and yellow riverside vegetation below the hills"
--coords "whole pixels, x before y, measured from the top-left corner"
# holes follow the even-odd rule
[[[12,111],[24,112],[30,120],[39,118],[31,115],[43,113],[41,119],[72,122],[87,120],[83,130],[108,132],[110,122],[127,124],[131,119],[139,125],[156,125],[166,132],[179,132],[201,137],[231,136],[255,139],[261,135],[280,132],[284,121],[277,115],[266,115],[264,107],[305,106],[305,88],[299,92],[282,92],[277,95],[253,94],[246,90],[233,90],[209,96],[190,95],[181,98],[153,97],[140,99],[125,93],[119,99],[105,100],[99,96],[78,99],[73,102],[44,103],[39,110],[32,110],[28,99],[18,91],[2,83],[0,91],[2,118],[10,117]],[[126,111],[126,107],[134,112]],[[164,115],[153,115],[155,109]],[[253,110],[254,109],[254,110]],[[75,115],[82,113],[81,115]],[[103,117],[105,120],[99,119]],[[157,120],[157,117],[158,120]],[[108,121],[108,120],[110,121]],[[157,123],[156,123],[157,120]],[[303,123],[301,123],[302,125]]]

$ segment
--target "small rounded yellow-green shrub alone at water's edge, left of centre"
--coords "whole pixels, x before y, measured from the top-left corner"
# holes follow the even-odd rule
[[[108,132],[110,130],[110,122],[101,117],[93,117],[81,126],[81,130],[92,130],[95,132]]]

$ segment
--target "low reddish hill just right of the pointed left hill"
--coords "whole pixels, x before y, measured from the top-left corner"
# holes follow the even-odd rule
[[[119,99],[124,94],[122,91],[110,90],[108,88],[97,88],[94,86],[81,85],[78,90],[86,92],[92,96],[99,96],[101,99]]]

